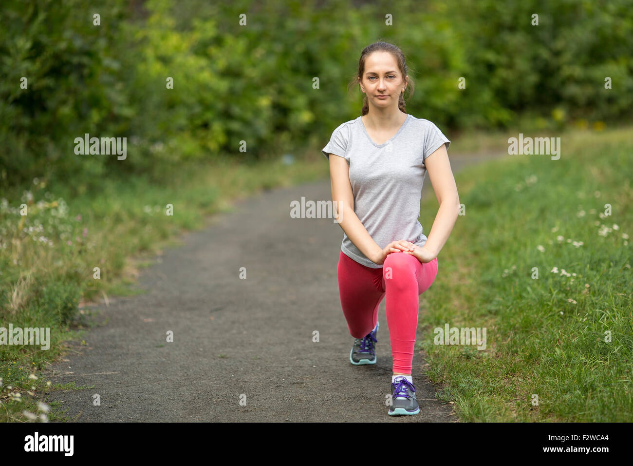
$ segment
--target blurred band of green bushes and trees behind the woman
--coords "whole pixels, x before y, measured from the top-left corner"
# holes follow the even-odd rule
[[[446,131],[630,122],[627,0],[3,0],[0,182],[82,192],[104,176],[160,183],[188,160],[320,148],[360,115],[347,84],[378,40],[404,52],[408,113]],[[127,160],[75,155],[85,133],[127,137]]]

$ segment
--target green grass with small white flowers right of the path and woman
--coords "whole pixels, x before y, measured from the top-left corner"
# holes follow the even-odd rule
[[[466,214],[422,295],[418,348],[462,421],[633,420],[630,129],[559,136],[560,160],[508,156],[456,175]],[[429,231],[437,200],[421,212]],[[445,323],[486,327],[486,349],[434,344]]]

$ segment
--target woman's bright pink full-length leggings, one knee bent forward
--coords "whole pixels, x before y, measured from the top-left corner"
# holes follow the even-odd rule
[[[418,296],[437,276],[437,257],[422,264],[415,256],[392,252],[382,268],[372,269],[341,251],[337,274],[341,307],[354,338],[363,338],[376,327],[380,302],[387,295],[393,372],[410,374],[418,327]]]

